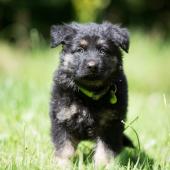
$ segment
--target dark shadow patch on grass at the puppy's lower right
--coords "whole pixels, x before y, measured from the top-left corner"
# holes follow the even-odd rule
[[[147,170],[152,170],[154,165],[154,160],[152,158],[144,151],[139,151],[137,149],[124,149],[118,156],[118,161],[121,166]]]

